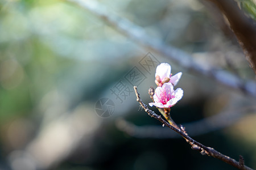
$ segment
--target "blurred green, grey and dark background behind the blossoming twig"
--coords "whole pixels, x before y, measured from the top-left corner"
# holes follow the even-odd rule
[[[254,3],[246,2],[247,16],[254,18]],[[118,29],[131,30],[122,20],[108,23],[119,16],[143,30],[150,38],[145,41],[175,46],[206,70],[228,71],[254,84],[253,70],[213,4],[86,3],[0,1],[1,170],[235,169],[192,150],[139,107],[133,85],[150,103],[147,92],[156,87],[160,62],[170,63],[172,74],[183,72],[175,88],[184,97],[171,110],[174,121],[205,146],[236,160],[242,155],[256,168],[255,96],[148,48]]]

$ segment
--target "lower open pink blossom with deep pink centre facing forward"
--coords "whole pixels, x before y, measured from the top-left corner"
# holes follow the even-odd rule
[[[154,94],[154,103],[148,103],[151,107],[155,105],[159,108],[173,107],[183,96],[183,90],[177,88],[174,91],[172,83],[164,83],[162,87],[157,87]]]

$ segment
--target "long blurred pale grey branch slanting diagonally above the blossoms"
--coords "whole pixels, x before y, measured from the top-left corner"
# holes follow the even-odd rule
[[[256,83],[254,81],[245,81],[237,75],[225,70],[204,69],[203,65],[197,63],[189,54],[183,52],[183,50],[177,49],[171,45],[163,44],[162,41],[148,36],[142,27],[139,27],[125,18],[121,18],[96,1],[66,1],[76,3],[77,5],[92,12],[105,23],[109,24],[110,27],[113,27],[123,35],[133,39],[147,49],[154,50],[154,52],[172,59],[173,62],[176,62],[184,69],[188,69],[190,72],[193,71],[195,73],[208,76],[227,87],[241,90],[247,95],[256,97]]]

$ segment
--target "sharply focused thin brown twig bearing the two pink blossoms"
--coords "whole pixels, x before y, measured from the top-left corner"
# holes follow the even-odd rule
[[[141,97],[139,96],[137,86],[134,86],[134,91],[135,91],[135,94],[137,97],[137,101],[139,102],[139,104],[141,104],[144,111],[147,112],[149,116],[154,117],[156,120],[160,121],[164,126],[167,126],[168,128],[174,130],[176,133],[180,134],[191,145],[192,149],[200,151],[200,153],[203,155],[208,155],[208,156],[212,156],[213,158],[220,159],[223,162],[233,165],[233,167],[236,167],[238,169],[251,169],[251,168],[247,167],[246,165],[244,165],[243,162],[239,163],[236,160],[230,158],[229,156],[223,155],[220,152],[214,150],[214,148],[204,146],[203,144],[195,141],[194,139],[192,139],[191,137],[188,136],[188,134],[185,132],[185,129],[182,126],[181,126],[181,130],[180,130],[180,129],[176,129],[174,126],[168,124],[167,121],[163,120],[163,118],[161,116],[159,116],[155,112],[148,109],[147,105],[143,103],[143,101],[141,100]]]

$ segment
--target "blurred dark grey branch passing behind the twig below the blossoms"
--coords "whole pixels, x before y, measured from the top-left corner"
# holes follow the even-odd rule
[[[245,108],[236,108],[183,125],[188,129],[189,135],[195,137],[230,126],[246,114],[255,112],[256,107],[254,105]],[[124,119],[118,119],[116,123],[119,130],[137,138],[180,138],[176,133],[159,126],[137,126]]]

